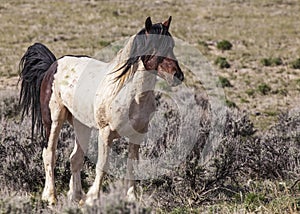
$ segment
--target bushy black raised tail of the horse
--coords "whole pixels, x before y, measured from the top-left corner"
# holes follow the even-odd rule
[[[40,108],[40,87],[44,74],[56,61],[54,54],[43,44],[30,46],[19,64],[19,75],[22,81],[19,104],[22,108],[22,120],[31,112],[31,137],[34,128],[43,133]]]

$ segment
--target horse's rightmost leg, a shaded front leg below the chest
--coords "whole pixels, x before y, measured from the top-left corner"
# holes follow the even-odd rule
[[[130,138],[128,145],[128,160],[127,160],[127,173],[126,173],[126,183],[127,183],[127,199],[129,201],[137,200],[137,187],[136,187],[136,170],[139,161],[139,148],[142,139],[140,138]]]

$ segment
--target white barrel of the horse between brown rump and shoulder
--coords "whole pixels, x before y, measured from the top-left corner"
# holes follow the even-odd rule
[[[89,57],[65,56],[58,60],[54,91],[62,104],[83,124],[92,127],[94,98],[107,75],[107,64]]]

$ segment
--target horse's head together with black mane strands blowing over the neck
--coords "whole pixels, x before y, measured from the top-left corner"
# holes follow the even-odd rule
[[[117,78],[123,77],[129,69],[142,60],[148,71],[154,71],[165,79],[170,86],[179,85],[184,75],[174,55],[174,39],[169,33],[172,17],[163,22],[152,24],[148,17],[143,28],[135,37],[126,63],[119,68],[122,70]]]

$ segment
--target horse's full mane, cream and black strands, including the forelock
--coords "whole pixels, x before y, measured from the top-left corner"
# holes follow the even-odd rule
[[[172,43],[174,43],[174,41],[171,34],[168,32],[168,29],[162,23],[152,25],[151,30],[150,32],[147,32],[147,35],[145,28],[143,28],[135,36],[131,37],[127,45],[120,51],[122,55],[125,55],[126,59],[123,59],[123,62],[125,61],[125,63],[117,66],[117,68],[114,70],[114,72],[117,72],[115,81],[118,81],[119,88],[124,85],[126,80],[135,74],[138,68],[139,60],[144,61],[146,58],[150,58],[157,54],[153,50],[153,47],[149,45],[149,40],[152,39],[152,41],[154,41],[154,39],[158,39],[157,35],[163,36],[161,39],[162,41],[155,41],[158,46],[156,48],[160,50],[160,53],[158,54],[160,57],[166,56],[165,51],[167,51],[170,41]],[[147,39],[147,37],[152,38]]]

